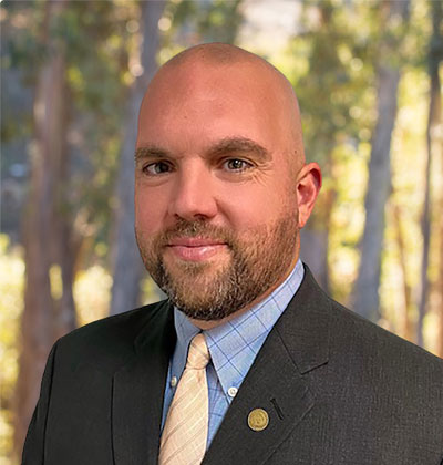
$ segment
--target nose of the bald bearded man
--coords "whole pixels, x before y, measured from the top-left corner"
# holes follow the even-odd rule
[[[198,163],[181,169],[175,178],[169,215],[187,220],[210,219],[217,214],[215,183],[210,170]]]

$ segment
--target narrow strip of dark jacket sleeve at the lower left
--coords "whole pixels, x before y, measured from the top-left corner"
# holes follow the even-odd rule
[[[54,370],[54,358],[58,342],[52,347],[48,356],[47,366],[43,372],[40,397],[37,403],[31,423],[24,441],[22,465],[44,464],[44,442],[48,410],[51,399],[52,375]]]

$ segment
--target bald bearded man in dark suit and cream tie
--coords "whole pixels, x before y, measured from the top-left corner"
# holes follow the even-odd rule
[[[443,463],[443,362],[299,261],[320,168],[269,63],[205,44],[142,103],[135,229],[168,300],[59,340],[25,464]]]

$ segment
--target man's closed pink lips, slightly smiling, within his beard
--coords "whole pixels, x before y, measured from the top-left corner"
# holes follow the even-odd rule
[[[185,261],[205,261],[227,249],[227,244],[219,239],[202,237],[181,237],[169,240],[166,250]]]

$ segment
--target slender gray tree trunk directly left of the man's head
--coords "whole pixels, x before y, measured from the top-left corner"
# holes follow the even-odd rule
[[[114,224],[114,282],[111,314],[130,310],[138,304],[140,280],[144,270],[134,236],[134,153],[140,104],[148,82],[157,70],[156,54],[159,42],[157,24],[165,1],[142,1],[140,6],[143,35],[141,64],[144,71],[131,89],[120,158],[116,184],[117,205]]]

